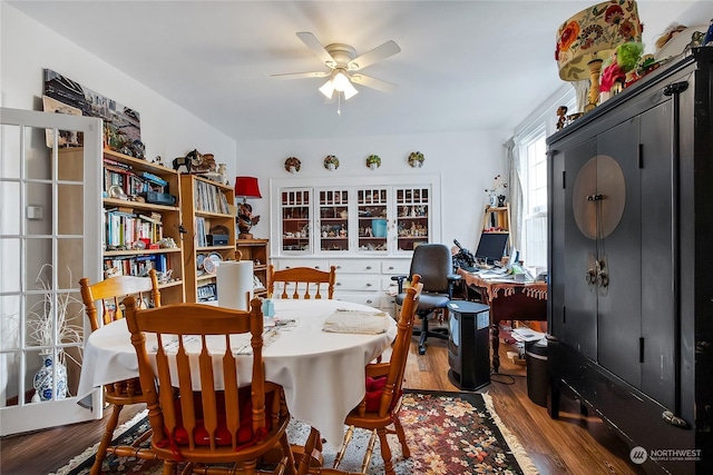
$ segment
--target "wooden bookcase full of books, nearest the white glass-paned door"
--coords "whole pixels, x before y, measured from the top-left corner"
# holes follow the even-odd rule
[[[159,271],[163,304],[185,300],[180,185],[167,167],[104,150],[102,170],[104,276],[146,275]],[[147,191],[175,197],[159,205]],[[172,245],[173,241],[173,245]],[[162,273],[166,277],[162,277]]]

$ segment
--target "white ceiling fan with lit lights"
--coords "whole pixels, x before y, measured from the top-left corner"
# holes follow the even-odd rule
[[[401,51],[401,48],[394,41],[385,43],[367,51],[361,56],[356,56],[356,50],[343,43],[322,46],[316,37],[310,32],[302,31],[297,33],[297,38],[310,48],[320,60],[324,63],[328,71],[312,72],[292,72],[286,75],[272,75],[275,79],[304,79],[304,78],[329,78],[329,80],[320,88],[320,91],[331,99],[334,91],[342,92],[344,100],[350,99],[359,91],[353,83],[365,86],[383,92],[393,92],[398,86],[381,79],[372,78],[363,75],[362,69],[374,62],[382,61],[390,56]]]

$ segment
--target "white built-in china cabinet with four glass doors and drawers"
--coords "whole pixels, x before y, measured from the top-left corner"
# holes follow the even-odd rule
[[[391,276],[414,246],[441,241],[440,176],[271,180],[276,268],[336,267],[338,299],[393,311]]]

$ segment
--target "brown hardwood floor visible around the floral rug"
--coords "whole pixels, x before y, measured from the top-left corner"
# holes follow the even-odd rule
[[[404,387],[458,390],[448,380],[446,342],[429,339],[428,352],[419,356],[411,344]],[[559,420],[527,396],[525,366],[512,364],[500,345],[500,373],[491,375],[481,393],[492,396],[496,410],[515,434],[541,474],[643,474],[628,459],[626,444],[598,417],[584,417],[577,402],[563,397]],[[119,424],[140,407],[127,407]],[[109,412],[106,412],[105,419]],[[56,472],[86,447],[98,442],[105,420],[81,423],[0,439],[0,474],[35,475]],[[456,474],[451,474],[456,475]]]

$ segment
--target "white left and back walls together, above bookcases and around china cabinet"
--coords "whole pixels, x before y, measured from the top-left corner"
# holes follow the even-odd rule
[[[179,108],[101,58],[90,55],[6,2],[0,2],[0,105],[41,110],[42,69],[50,68],[94,91],[140,113],[141,140],[146,156],[160,155],[165,162],[197,148],[212,152],[228,165],[228,176],[252,175],[261,179],[263,200],[254,200],[262,221],[253,229],[257,237],[270,237],[268,179],[285,178],[284,159],[302,160],[295,179],[329,177],[322,160],[336,155],[340,179],[371,174],[398,177],[404,174],[440,174],[442,177],[442,241],[453,238],[475,248],[480,235],[486,188],[498,174],[505,174],[502,144],[511,131],[472,131],[418,136],[377,136],[339,140],[247,141],[235,144],[197,117]],[[117,51],[117,53],[130,53]],[[170,78],[166,78],[170,81]],[[556,81],[553,78],[553,81]],[[426,155],[421,169],[409,167],[407,157],[419,150]],[[377,154],[383,165],[377,171],[364,159]],[[395,180],[397,178],[394,178]]]

